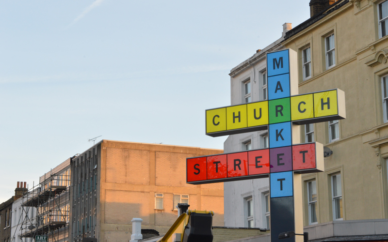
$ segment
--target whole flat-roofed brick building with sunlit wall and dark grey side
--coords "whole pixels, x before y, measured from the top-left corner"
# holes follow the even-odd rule
[[[215,212],[224,226],[224,184],[186,183],[186,158],[223,150],[102,140],[71,160],[71,241],[128,241],[131,219],[165,233],[178,203]]]

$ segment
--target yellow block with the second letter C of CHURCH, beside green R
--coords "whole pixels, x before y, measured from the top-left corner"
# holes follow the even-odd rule
[[[313,94],[291,97],[291,121],[314,118]]]

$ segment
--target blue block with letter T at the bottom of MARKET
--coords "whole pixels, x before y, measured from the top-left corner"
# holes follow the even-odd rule
[[[293,196],[292,171],[270,174],[271,197]]]

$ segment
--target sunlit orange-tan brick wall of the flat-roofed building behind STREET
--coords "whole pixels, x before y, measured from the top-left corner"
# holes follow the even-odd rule
[[[224,225],[223,183],[186,183],[186,158],[222,150],[103,140],[99,151],[97,231],[105,242],[128,241],[133,217],[143,219],[142,228],[167,232],[178,218],[174,194],[189,195],[189,209],[214,211],[213,225]],[[155,193],[163,194],[162,210]]]

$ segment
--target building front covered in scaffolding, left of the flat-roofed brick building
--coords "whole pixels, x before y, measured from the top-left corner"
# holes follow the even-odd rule
[[[55,174],[51,170],[41,177],[38,185],[27,189],[21,210],[21,242],[32,242],[37,235],[48,236],[48,242],[68,242],[70,166]]]

